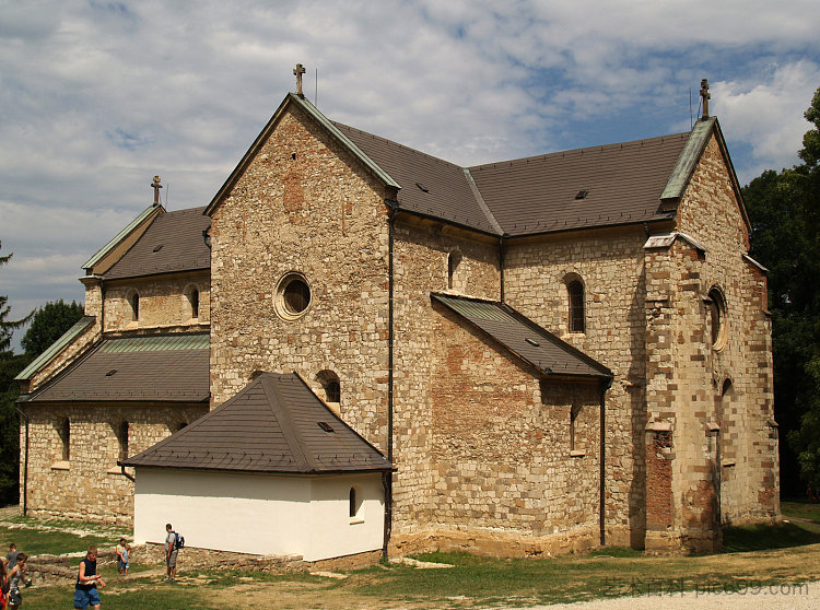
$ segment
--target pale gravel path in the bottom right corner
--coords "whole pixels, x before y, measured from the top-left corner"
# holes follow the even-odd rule
[[[704,587],[699,591],[664,591],[640,597],[619,597],[532,606],[527,610],[816,610],[820,608],[820,582],[803,585],[772,585],[723,591]],[[485,610],[509,610],[508,606],[492,606]]]

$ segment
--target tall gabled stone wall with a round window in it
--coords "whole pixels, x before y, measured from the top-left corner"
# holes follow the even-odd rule
[[[211,394],[218,406],[259,371],[296,371],[320,397],[340,382],[341,417],[386,450],[388,284],[385,190],[290,106],[211,221]],[[280,280],[311,302],[280,312]],[[281,286],[280,286],[281,288]]]

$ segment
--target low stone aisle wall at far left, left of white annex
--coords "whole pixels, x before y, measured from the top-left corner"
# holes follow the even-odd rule
[[[26,507],[32,515],[81,518],[130,525],[133,483],[117,466],[122,447],[120,424],[127,421],[128,455],[159,443],[208,412],[206,404],[117,403],[32,404],[28,414]],[[62,422],[70,422],[69,459],[63,455]],[[21,427],[21,486],[25,462],[25,424]],[[127,471],[133,476],[132,469]],[[22,500],[21,500],[22,502]]]

